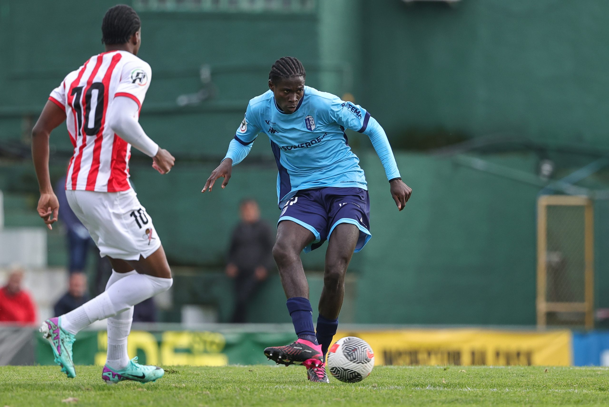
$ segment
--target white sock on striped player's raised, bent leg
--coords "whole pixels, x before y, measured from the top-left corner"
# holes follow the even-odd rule
[[[62,315],[62,328],[76,334],[96,320],[115,316],[133,305],[169,289],[173,278],[152,277],[147,274],[130,274],[115,281],[94,299]]]

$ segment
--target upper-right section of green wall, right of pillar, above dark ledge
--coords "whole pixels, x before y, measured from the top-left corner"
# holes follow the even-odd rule
[[[445,127],[609,147],[609,2],[363,5],[362,102],[393,135]]]

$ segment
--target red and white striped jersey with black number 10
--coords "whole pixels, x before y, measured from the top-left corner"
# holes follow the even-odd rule
[[[66,126],[74,154],[70,158],[66,189],[118,192],[131,188],[131,144],[107,122],[114,97],[130,97],[141,109],[152,70],[131,52],[109,51],[91,57],[66,76],[49,100],[66,112]]]

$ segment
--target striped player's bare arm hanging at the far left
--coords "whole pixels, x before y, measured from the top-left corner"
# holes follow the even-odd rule
[[[49,176],[49,136],[65,119],[66,112],[54,102],[47,101],[32,129],[32,159],[40,188],[37,210],[49,229],[57,222],[59,213],[59,201],[53,192]]]

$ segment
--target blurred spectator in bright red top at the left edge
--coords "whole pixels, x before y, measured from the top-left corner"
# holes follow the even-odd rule
[[[23,269],[13,269],[7,285],[0,288],[0,322],[36,322],[36,307],[22,282]]]

